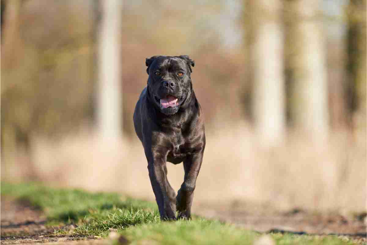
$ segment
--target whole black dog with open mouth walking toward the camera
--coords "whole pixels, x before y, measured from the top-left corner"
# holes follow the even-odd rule
[[[205,148],[204,117],[192,88],[195,65],[187,55],[153,56],[134,111],[134,126],[148,160],[149,178],[162,220],[190,219],[191,204]],[[176,197],[166,162],[183,162],[185,177]]]

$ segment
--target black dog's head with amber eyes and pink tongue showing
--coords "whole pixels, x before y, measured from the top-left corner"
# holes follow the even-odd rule
[[[191,66],[187,55],[153,56],[145,60],[152,103],[165,115],[175,114],[191,94]]]

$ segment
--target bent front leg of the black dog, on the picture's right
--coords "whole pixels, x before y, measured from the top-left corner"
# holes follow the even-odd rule
[[[185,161],[183,161],[185,177],[181,188],[178,190],[176,198],[177,211],[179,211],[178,218],[191,218],[191,204],[194,197],[196,178],[199,174],[202,161],[203,151],[190,155]]]

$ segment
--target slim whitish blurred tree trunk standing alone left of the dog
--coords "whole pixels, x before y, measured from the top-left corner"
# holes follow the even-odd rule
[[[122,1],[103,0],[99,29],[99,86],[97,121],[102,138],[120,137],[122,127],[122,86],[120,74],[120,23]]]

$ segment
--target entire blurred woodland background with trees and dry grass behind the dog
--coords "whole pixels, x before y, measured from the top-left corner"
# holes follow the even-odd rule
[[[196,62],[194,205],[365,212],[366,0],[1,0],[1,180],[154,199],[132,123],[153,55]]]

